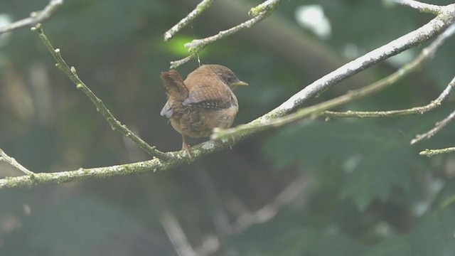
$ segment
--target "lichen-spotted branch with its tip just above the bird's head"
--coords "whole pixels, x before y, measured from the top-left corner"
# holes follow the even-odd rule
[[[182,65],[183,63],[188,62],[188,60],[191,60],[191,58],[195,57],[200,53],[205,46],[208,46],[210,43],[213,43],[215,41],[218,41],[220,39],[223,39],[225,37],[228,37],[232,35],[233,33],[237,33],[237,31],[240,31],[245,28],[251,28],[253,25],[258,23],[259,21],[262,21],[264,18],[267,18],[272,14],[275,8],[277,8],[279,1],[281,0],[267,0],[264,1],[264,3],[259,4],[255,8],[252,8],[248,14],[255,16],[254,18],[251,18],[248,21],[245,21],[244,23],[240,23],[239,25],[229,28],[228,30],[225,31],[220,31],[218,34],[215,36],[209,36],[207,38],[203,39],[196,39],[191,41],[190,43],[185,44],[185,48],[188,50],[188,55],[186,58],[183,58],[181,60],[176,60],[176,61],[171,61],[171,67],[170,68],[177,68],[179,65]]]

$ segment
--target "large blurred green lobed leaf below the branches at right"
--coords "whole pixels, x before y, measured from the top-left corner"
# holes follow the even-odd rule
[[[338,161],[346,173],[341,197],[364,210],[377,198],[385,201],[395,187],[410,189],[419,156],[409,141],[400,129],[364,120],[302,122],[278,132],[265,153],[277,169],[297,163],[317,171],[325,161]]]

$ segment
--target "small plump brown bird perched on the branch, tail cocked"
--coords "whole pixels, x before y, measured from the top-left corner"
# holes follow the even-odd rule
[[[182,149],[191,157],[185,137],[207,137],[213,128],[228,128],[239,110],[232,90],[242,82],[223,65],[202,65],[183,81],[176,70],[161,73],[168,101],[161,115],[182,134]]]

